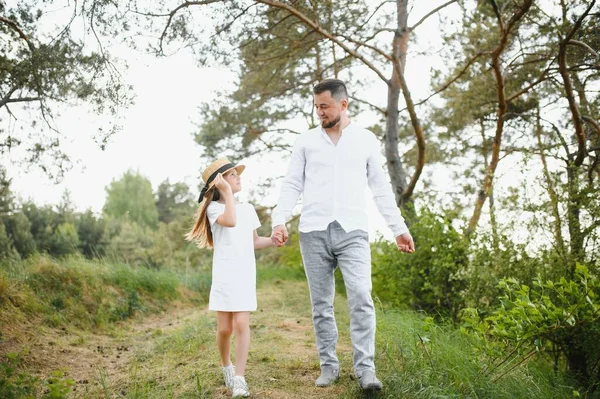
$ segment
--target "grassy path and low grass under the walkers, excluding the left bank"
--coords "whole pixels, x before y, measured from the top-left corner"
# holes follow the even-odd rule
[[[344,296],[336,298],[342,376],[335,386],[319,389],[314,386],[319,366],[306,283],[285,271],[260,268],[261,273],[265,280],[259,311],[251,316],[247,367],[253,397],[363,397],[352,375]],[[108,382],[108,393],[127,398],[229,397],[221,381],[215,331],[214,314],[204,311],[181,328],[156,334],[138,348],[129,374]],[[378,311],[376,364],[385,389],[373,397],[545,399],[570,398],[574,391],[539,359],[494,381],[506,369],[481,373],[486,361],[473,353],[468,337],[412,311]]]

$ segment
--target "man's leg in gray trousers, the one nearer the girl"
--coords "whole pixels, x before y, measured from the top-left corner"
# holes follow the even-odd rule
[[[335,351],[338,333],[333,313],[335,295],[333,273],[336,260],[331,253],[328,231],[329,229],[300,233],[300,250],[310,290],[313,326],[322,377],[331,374],[331,378],[324,378],[324,380],[335,380],[339,371],[339,361]],[[321,377],[317,380],[317,385],[329,385],[327,381],[320,380]]]

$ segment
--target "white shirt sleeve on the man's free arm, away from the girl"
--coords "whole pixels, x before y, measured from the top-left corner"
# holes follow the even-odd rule
[[[367,179],[377,210],[383,216],[392,233],[394,233],[394,237],[408,232],[408,227],[400,214],[400,209],[396,205],[392,185],[383,171],[379,142],[375,136],[372,137],[369,158],[367,160]]]

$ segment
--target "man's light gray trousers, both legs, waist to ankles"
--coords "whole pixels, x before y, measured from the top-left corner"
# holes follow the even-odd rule
[[[354,373],[375,369],[375,308],[371,298],[371,249],[362,230],[346,233],[338,222],[325,231],[300,233],[300,250],[312,302],[313,325],[321,368],[338,369],[338,331],[333,313],[335,280],[340,267],[350,310]]]

